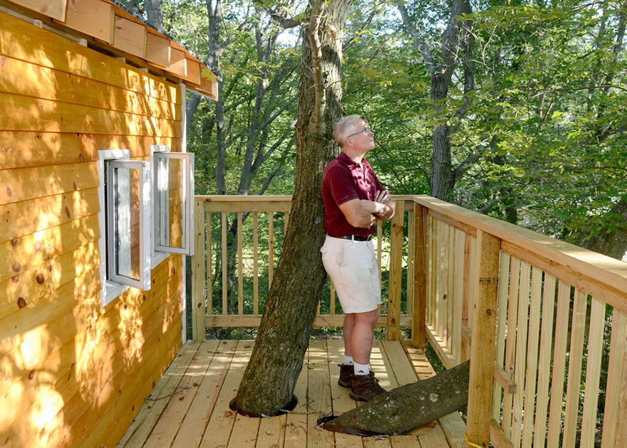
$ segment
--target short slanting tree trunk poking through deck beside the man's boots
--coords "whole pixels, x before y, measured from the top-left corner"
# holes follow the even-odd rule
[[[467,405],[469,375],[470,361],[466,361],[427,380],[390,390],[322,427],[356,435],[408,434]]]

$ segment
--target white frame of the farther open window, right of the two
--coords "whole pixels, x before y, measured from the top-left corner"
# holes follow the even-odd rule
[[[180,255],[193,255],[194,254],[194,188],[193,188],[193,174],[194,174],[194,154],[189,152],[170,152],[166,145],[152,145],[150,151],[152,152],[152,250],[154,256],[157,258],[157,264],[167,257],[164,254],[180,254]],[[161,160],[167,159],[180,159],[183,161],[182,166],[185,167],[182,171],[182,240],[184,244],[182,247],[173,247],[170,245],[162,244],[162,240],[169,240],[168,231],[168,191],[165,188],[165,193],[160,194],[163,189],[160,183],[165,186],[168,185],[167,178],[160,178]],[[165,216],[165,225],[162,225]],[[158,254],[158,255],[157,255]]]

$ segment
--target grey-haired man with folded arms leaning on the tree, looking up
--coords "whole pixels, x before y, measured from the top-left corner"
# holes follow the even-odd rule
[[[377,260],[372,242],[375,224],[394,214],[394,203],[363,158],[374,148],[366,118],[338,120],[333,138],[341,153],[322,178],[324,228],[322,262],[333,280],[344,317],[344,361],[338,384],[351,398],[369,401],[385,393],[370,371],[373,334],[381,303]]]

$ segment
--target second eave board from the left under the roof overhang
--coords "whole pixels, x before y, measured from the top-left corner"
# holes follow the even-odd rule
[[[113,43],[113,4],[100,0],[69,0],[65,25],[88,36]]]

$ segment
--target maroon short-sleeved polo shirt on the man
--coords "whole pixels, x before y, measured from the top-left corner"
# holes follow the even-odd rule
[[[361,159],[361,166],[353,159],[340,153],[324,169],[322,175],[322,200],[324,202],[324,229],[335,236],[362,235],[375,233],[375,226],[353,227],[340,210],[343,203],[351,199],[374,201],[377,191],[383,191],[372,166]]]

